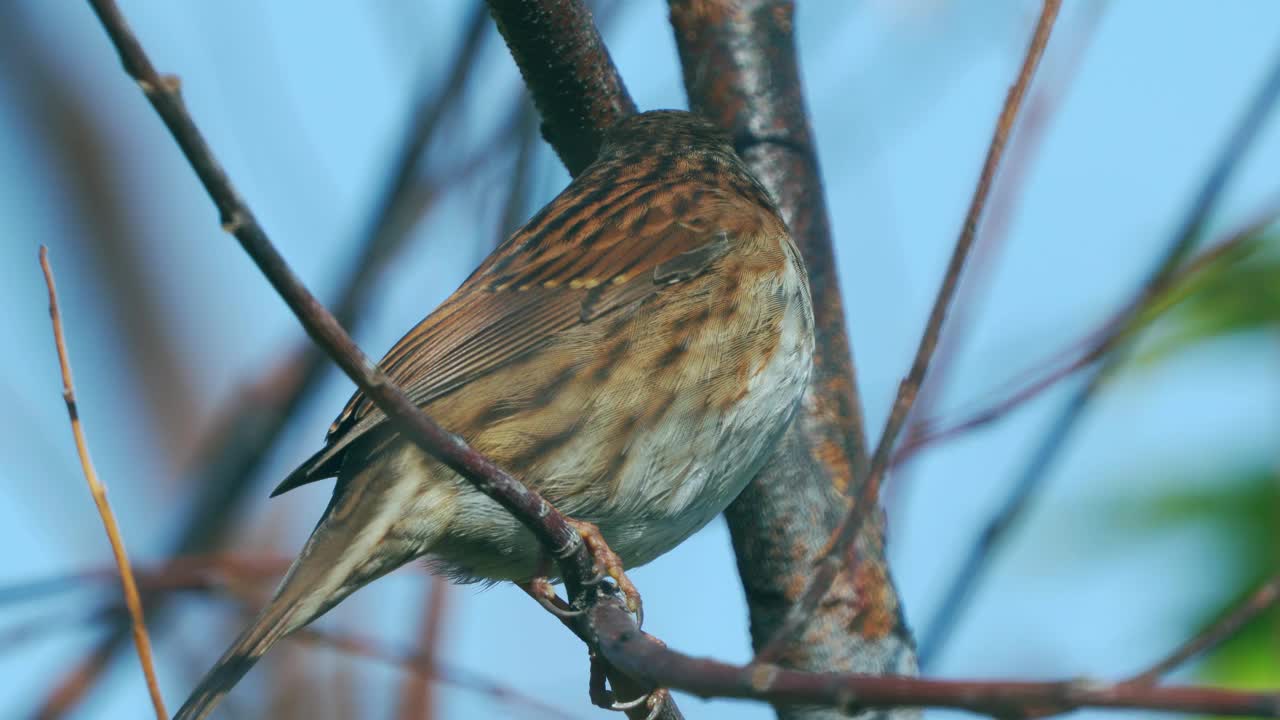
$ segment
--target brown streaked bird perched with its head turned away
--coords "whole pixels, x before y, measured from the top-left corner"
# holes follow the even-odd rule
[[[634,568],[755,475],[800,402],[813,343],[805,268],[768,192],[722,131],[659,110],[611,128],[596,160],[381,368]],[[520,521],[358,392],[273,495],[333,475],[275,597],[178,719],[205,717],[273,643],[411,560],[462,580],[554,571]]]

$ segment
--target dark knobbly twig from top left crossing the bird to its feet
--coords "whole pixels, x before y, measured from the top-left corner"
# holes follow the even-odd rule
[[[214,158],[204,135],[187,111],[178,91],[178,79],[156,72],[113,0],[90,0],[90,5],[120,54],[125,72],[138,82],[143,95],[164,120],[218,206],[223,228],[239,241],[241,247],[293,310],[307,334],[324,347],[365,396],[387,414],[404,438],[466,478],[476,489],[497,501],[529,528],[557,559],[561,577],[575,603],[590,606],[595,601],[596,587],[584,580],[594,577],[594,560],[581,536],[566,521],[564,515],[492,460],[476,452],[461,437],[435,423],[356,346],[351,336],[293,273],[232,186],[227,172]]]

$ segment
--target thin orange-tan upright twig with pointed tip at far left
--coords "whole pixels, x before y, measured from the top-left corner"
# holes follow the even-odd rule
[[[106,529],[106,539],[111,543],[111,555],[115,556],[115,566],[120,569],[120,587],[124,589],[124,605],[129,609],[129,620],[133,625],[133,644],[138,650],[138,662],[142,664],[142,674],[147,680],[147,693],[151,694],[151,706],[156,711],[159,720],[166,720],[169,712],[164,707],[164,698],[160,696],[160,683],[156,680],[155,665],[151,659],[151,638],[147,637],[147,626],[142,615],[142,598],[138,597],[138,585],[129,569],[129,556],[124,551],[124,539],[120,538],[120,527],[111,512],[111,503],[106,500],[106,487],[93,469],[93,460],[88,455],[88,442],[84,439],[84,428],[81,424],[79,410],[76,406],[76,386],[72,382],[72,363],[67,355],[67,338],[63,336],[63,316],[58,309],[58,290],[54,286],[54,269],[49,265],[49,249],[40,246],[40,268],[45,272],[45,284],[49,286],[49,316],[54,324],[54,343],[58,347],[58,365],[63,374],[63,401],[67,404],[67,415],[70,416],[72,434],[76,437],[76,452],[79,455],[81,469],[84,470],[84,482],[93,496],[93,505],[102,518],[102,528]]]

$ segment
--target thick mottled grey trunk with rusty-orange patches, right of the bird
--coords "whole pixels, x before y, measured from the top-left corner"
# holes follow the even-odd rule
[[[671,0],[690,106],[724,127],[773,193],[804,256],[813,292],[810,387],[773,457],[726,511],[756,648],[774,634],[865,475],[867,438],[840,279],[796,58],[792,4]],[[813,671],[914,670],[883,560],[881,527],[859,541],[856,575],[840,578],[803,643],[782,665]],[[788,719],[824,708],[778,708]]]

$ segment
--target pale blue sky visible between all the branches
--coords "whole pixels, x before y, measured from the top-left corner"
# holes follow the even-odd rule
[[[201,128],[260,220],[302,278],[332,297],[361,219],[385,172],[425,69],[456,49],[461,3],[308,6],[122,3],[156,64],[182,77]],[[849,325],[869,427],[878,429],[936,291],[969,201],[995,117],[1014,77],[1036,3],[864,0],[801,4],[796,23],[837,242]],[[1066,70],[1084,42],[1088,3],[1068,3],[1042,77]],[[47,243],[59,274],[81,410],[99,470],[138,562],[155,560],[187,511],[182,450],[239,383],[257,377],[302,337],[266,283],[218,228],[216,214],[141,94],[119,70],[87,6],[26,3],[29,42],[55,47],[111,142],[118,197],[142,228],[137,256],[164,329],[193,382],[189,427],[157,428],[140,397],[148,378],[129,357],[122,319],[108,309],[91,229],[65,211],[67,187],[33,137],[32,114],[12,73],[0,79],[0,356],[9,411],[0,418],[0,583],[109,561],[78,474],[58,397],[56,365],[36,268]],[[957,411],[1096,327],[1140,281],[1174,231],[1229,127],[1280,46],[1280,4],[1107,4],[1025,174],[1005,251],[942,409]],[[643,109],[685,106],[662,3],[626,4],[605,38]],[[456,156],[500,120],[518,76],[495,37],[483,55]],[[443,70],[442,70],[443,72]],[[486,124],[488,123],[488,124]],[[1016,137],[1015,141],[1016,143]],[[1230,228],[1275,188],[1280,127],[1272,122],[1231,183],[1213,227]],[[567,177],[539,151],[538,202]],[[436,208],[385,274],[358,333],[384,351],[457,286],[493,237],[503,167],[481,172]],[[1207,345],[1125,374],[1102,396],[1055,468],[1010,552],[1001,555],[974,611],[941,659],[954,676],[1116,676],[1176,643],[1231,578],[1208,530],[1119,543],[1094,532],[1101,507],[1170,487],[1167,470],[1221,457],[1267,456],[1280,428],[1275,348]],[[943,578],[986,512],[1002,497],[1028,445],[1069,386],[992,429],[922,456],[890,507],[890,551],[908,619],[937,602]],[[292,553],[326,488],[273,501],[266,491],[323,437],[349,393],[333,373],[256,480],[242,547]],[[1193,474],[1193,473],[1192,473]],[[891,480],[892,482],[892,480]],[[632,574],[646,629],[695,655],[749,657],[745,607],[722,521]],[[696,579],[696,583],[690,583]],[[419,574],[398,574],[328,618],[333,628],[416,626]],[[91,592],[41,607],[0,606],[0,629],[56,610],[87,609]],[[589,716],[580,643],[513,588],[461,588],[447,657],[577,716]],[[160,643],[165,696],[177,705],[192,673],[219,651],[238,619],[225,603],[182,605],[178,632]],[[90,626],[41,635],[0,653],[0,715],[23,715],[49,678],[92,639]],[[324,676],[338,660],[308,653]],[[314,665],[314,667],[312,667]],[[372,707],[388,705],[398,674],[361,664]],[[250,685],[255,684],[252,680]],[[379,691],[381,688],[381,691]],[[448,717],[502,715],[474,693],[445,689]],[[146,702],[132,662],[118,664],[82,717],[133,717]],[[696,717],[769,717],[748,703],[685,701]]]

